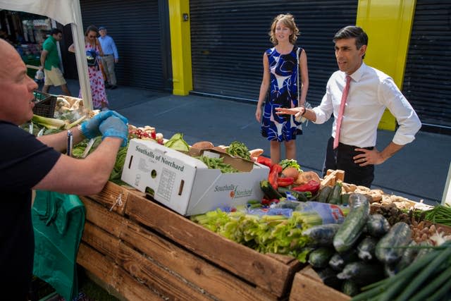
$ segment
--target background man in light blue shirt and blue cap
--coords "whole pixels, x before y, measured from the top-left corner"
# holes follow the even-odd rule
[[[114,44],[113,38],[106,35],[106,27],[99,27],[99,42],[102,51],[104,51],[104,56],[101,58],[101,63],[104,65],[104,71],[106,73],[106,79],[108,82],[105,83],[107,89],[116,89],[116,74],[114,73],[114,65],[119,61],[118,49],[116,44]]]

